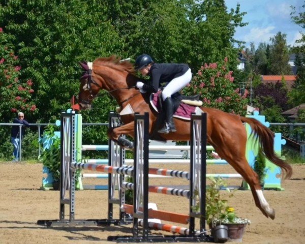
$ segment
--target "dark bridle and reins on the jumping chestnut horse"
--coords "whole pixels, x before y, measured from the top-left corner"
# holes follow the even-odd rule
[[[88,62],[88,63],[86,63],[86,64],[85,64],[85,63],[80,63],[80,65],[81,65],[81,67],[82,67],[83,70],[84,70],[84,71],[83,71],[83,75],[82,75],[82,77],[80,78],[80,80],[82,80],[82,79],[87,79],[86,87],[84,88],[84,90],[89,90],[89,93],[90,93],[90,94],[88,95],[88,97],[87,97],[86,100],[82,99],[82,100],[79,100],[79,102],[84,103],[84,104],[91,104],[94,98],[100,97],[100,96],[101,96],[101,95],[98,95],[98,94],[96,94],[96,95],[93,94],[93,92],[92,92],[92,84],[98,86],[98,87],[101,88],[101,89],[102,89],[102,86],[101,86],[99,83],[97,83],[97,82],[93,79],[93,77],[92,77],[92,71],[93,71],[93,63],[92,63],[92,62]],[[130,86],[130,87],[115,88],[115,89],[113,89],[113,90],[109,90],[108,93],[113,97],[112,93],[115,92],[116,90],[121,90],[121,89],[132,89],[132,88],[136,88],[136,86],[133,85],[133,86]],[[120,103],[120,104],[123,104],[123,103],[129,101],[130,99],[132,99],[133,97],[135,97],[135,96],[137,96],[137,95],[139,95],[139,94],[141,94],[140,91],[139,91],[139,93],[134,94],[134,95],[132,95],[131,97],[129,97],[129,98],[127,98],[127,99],[125,99],[125,100],[123,100],[123,101],[121,101],[121,102],[119,102],[119,103]],[[113,97],[113,98],[114,98],[114,97]]]

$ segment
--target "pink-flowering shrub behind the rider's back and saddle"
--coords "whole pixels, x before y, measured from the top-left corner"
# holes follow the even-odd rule
[[[248,90],[239,93],[234,83],[233,72],[228,70],[228,59],[223,64],[204,64],[192,82],[182,90],[182,94],[191,96],[200,94],[204,107],[218,108],[225,112],[245,114],[248,102]]]

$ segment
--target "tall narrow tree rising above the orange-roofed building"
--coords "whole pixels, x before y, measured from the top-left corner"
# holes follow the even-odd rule
[[[291,74],[286,36],[286,34],[278,32],[275,37],[270,38],[270,75]]]

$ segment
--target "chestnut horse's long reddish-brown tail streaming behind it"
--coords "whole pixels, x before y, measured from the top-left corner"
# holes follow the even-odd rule
[[[268,160],[272,163],[279,166],[281,169],[285,171],[282,175],[283,178],[290,178],[292,175],[292,168],[289,164],[287,164],[284,160],[280,159],[273,149],[274,137],[275,133],[273,133],[269,128],[262,125],[257,119],[254,118],[246,118],[240,117],[243,123],[248,123],[254,134],[257,134],[259,137],[259,145],[260,148],[263,149],[263,152]]]

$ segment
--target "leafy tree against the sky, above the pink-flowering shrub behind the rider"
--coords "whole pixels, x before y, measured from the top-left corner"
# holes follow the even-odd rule
[[[240,12],[240,5],[227,12],[224,0],[201,1],[191,13],[190,40],[192,52],[191,66],[198,70],[204,63],[222,62],[229,59],[230,70],[236,70],[239,50],[233,47],[234,43],[241,42],[234,39],[235,28],[244,26]]]

